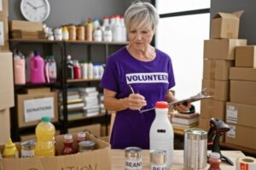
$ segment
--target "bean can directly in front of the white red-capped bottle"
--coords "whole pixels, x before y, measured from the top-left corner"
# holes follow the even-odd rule
[[[150,150],[150,170],[166,170],[166,150]]]

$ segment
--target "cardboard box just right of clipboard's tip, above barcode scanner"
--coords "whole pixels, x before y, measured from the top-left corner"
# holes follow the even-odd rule
[[[218,118],[225,120],[226,102],[213,99],[201,100],[201,118]]]

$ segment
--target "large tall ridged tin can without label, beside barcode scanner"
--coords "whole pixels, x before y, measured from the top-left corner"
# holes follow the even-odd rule
[[[184,170],[204,170],[207,167],[207,131],[185,130],[183,161]]]

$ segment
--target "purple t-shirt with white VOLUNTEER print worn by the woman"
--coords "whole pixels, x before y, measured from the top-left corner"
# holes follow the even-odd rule
[[[147,101],[142,111],[153,108],[156,101],[165,100],[167,90],[175,85],[172,60],[158,49],[152,61],[137,60],[125,47],[119,49],[108,57],[101,86],[116,92],[117,99],[123,99],[131,94],[129,84]],[[154,110],[143,113],[130,109],[118,111],[110,138],[111,147],[149,149],[149,130],[154,116]]]

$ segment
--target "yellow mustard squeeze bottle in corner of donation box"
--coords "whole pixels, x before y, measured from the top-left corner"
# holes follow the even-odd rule
[[[4,145],[3,157],[4,158],[19,157],[19,151],[17,150],[15,144],[12,142],[12,139],[8,139],[7,143]]]

